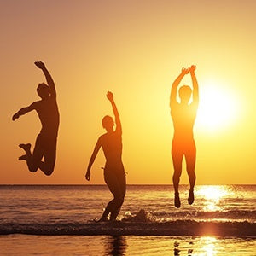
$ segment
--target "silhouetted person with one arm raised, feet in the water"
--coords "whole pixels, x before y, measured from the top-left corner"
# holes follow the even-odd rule
[[[122,127],[119,119],[119,112],[113,100],[113,93],[108,91],[107,98],[112,105],[115,117],[116,128],[114,130],[113,118],[106,115],[102,119],[102,126],[106,133],[98,138],[94,151],[90,157],[85,178],[90,180],[90,168],[96,158],[99,149],[102,147],[106,164],[104,169],[104,180],[108,189],[113,194],[113,200],[108,202],[108,206],[99,221],[106,221],[110,213],[110,220],[115,220],[125,199],[126,178],[125,169],[122,162]]]

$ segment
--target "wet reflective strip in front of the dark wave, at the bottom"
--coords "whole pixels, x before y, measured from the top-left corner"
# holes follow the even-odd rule
[[[0,236],[1,255],[255,255],[253,238],[213,236]],[[191,252],[191,253],[189,253]],[[176,253],[176,254],[175,254]]]

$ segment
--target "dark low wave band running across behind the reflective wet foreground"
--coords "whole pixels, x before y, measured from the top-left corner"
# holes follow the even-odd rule
[[[256,237],[256,223],[176,220],[87,224],[1,224],[0,235],[38,236],[236,236]]]

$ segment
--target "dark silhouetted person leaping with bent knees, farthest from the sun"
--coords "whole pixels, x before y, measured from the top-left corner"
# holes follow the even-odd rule
[[[41,69],[46,78],[47,84],[38,84],[38,96],[41,100],[33,102],[30,106],[20,108],[13,115],[13,120],[18,119],[20,115],[36,110],[42,124],[42,129],[38,134],[33,153],[31,144],[20,144],[19,147],[24,149],[24,155],[19,160],[26,160],[30,172],[37,172],[38,168],[45,175],[50,175],[54,171],[56,143],[59,129],[59,110],[56,102],[55,83],[42,61],[36,61],[35,65]],[[44,161],[42,160],[44,157]]]

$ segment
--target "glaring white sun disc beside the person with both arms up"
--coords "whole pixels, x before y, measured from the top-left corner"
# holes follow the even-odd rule
[[[202,129],[217,131],[232,122],[237,116],[236,98],[221,84],[205,83],[200,88],[200,103],[196,122]]]

